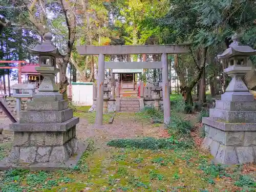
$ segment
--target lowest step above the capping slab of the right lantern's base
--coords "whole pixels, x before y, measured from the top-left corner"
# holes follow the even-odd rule
[[[210,109],[210,118],[229,123],[256,123],[256,111]]]

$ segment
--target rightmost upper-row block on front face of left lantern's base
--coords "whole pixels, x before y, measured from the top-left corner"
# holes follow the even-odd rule
[[[47,132],[45,145],[54,146],[54,145],[63,145],[65,144],[65,132]]]

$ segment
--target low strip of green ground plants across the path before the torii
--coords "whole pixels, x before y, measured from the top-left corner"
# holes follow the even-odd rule
[[[191,147],[186,141],[177,142],[174,139],[156,139],[152,137],[143,137],[142,139],[116,139],[108,142],[109,146],[118,148],[140,148],[148,150],[158,149],[182,149]]]

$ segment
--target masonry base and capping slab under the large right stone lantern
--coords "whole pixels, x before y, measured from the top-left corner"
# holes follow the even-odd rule
[[[205,134],[202,147],[216,162],[256,163],[256,123],[225,123],[203,118]]]

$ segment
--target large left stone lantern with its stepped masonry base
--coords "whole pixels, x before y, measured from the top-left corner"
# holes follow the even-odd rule
[[[84,150],[76,139],[79,118],[73,116],[73,110],[68,108],[68,101],[63,100],[55,83],[55,74],[59,72],[56,58],[65,55],[53,45],[50,33],[45,34],[44,39],[28,49],[29,53],[39,55],[36,70],[44,80],[33,101],[27,101],[27,111],[20,112],[19,122],[10,125],[14,132],[13,148],[4,166],[69,167],[76,164]],[[70,157],[75,154],[78,158],[72,160]]]

